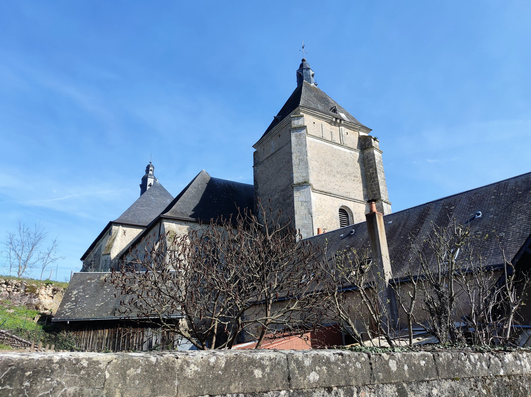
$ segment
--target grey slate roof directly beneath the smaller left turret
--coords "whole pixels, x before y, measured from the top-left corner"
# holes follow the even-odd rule
[[[172,202],[173,196],[159,182],[147,189],[114,223],[148,226]]]

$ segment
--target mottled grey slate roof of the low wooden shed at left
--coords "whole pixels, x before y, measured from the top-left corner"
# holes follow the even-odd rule
[[[107,277],[110,273],[74,273],[53,321],[120,318],[116,308],[123,297],[113,284],[105,282]]]

